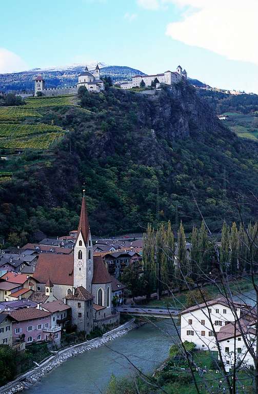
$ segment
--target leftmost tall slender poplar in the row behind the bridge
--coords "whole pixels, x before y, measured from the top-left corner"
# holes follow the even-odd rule
[[[156,267],[155,267],[155,236],[151,225],[148,225],[144,234],[143,245],[143,288],[147,298],[155,288]]]

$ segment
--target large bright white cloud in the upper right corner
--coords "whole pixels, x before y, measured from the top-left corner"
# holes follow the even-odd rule
[[[187,9],[183,21],[167,26],[167,35],[231,60],[258,65],[257,0],[173,0],[173,3]]]

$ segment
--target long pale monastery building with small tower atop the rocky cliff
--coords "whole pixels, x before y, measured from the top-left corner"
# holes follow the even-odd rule
[[[176,68],[176,71],[165,71],[161,74],[152,75],[134,75],[132,81],[121,82],[122,89],[131,89],[140,87],[144,84],[146,87],[160,87],[161,84],[173,85],[181,81],[182,77],[187,78],[186,70],[182,70],[181,66]]]

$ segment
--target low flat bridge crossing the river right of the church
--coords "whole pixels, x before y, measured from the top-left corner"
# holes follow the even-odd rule
[[[122,305],[117,308],[120,313],[130,316],[146,316],[161,319],[177,318],[180,309],[168,306]]]

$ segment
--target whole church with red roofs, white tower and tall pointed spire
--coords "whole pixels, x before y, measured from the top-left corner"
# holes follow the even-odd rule
[[[38,281],[38,299],[45,300],[51,293],[53,299],[64,301],[71,306],[72,324],[89,333],[96,326],[118,324],[120,316],[112,312],[112,278],[102,257],[93,257],[85,190],[83,193],[73,255],[40,254],[33,278]]]

